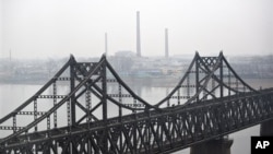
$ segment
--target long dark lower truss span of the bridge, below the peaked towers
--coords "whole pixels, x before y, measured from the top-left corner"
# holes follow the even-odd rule
[[[23,134],[4,149],[45,152],[48,145],[66,153],[72,144],[76,153],[169,153],[270,119],[273,88]]]

